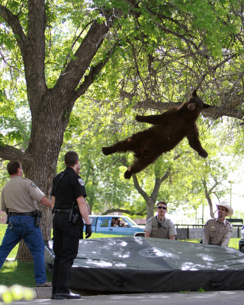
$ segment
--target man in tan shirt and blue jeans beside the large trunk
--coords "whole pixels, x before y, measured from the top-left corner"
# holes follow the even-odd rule
[[[10,161],[7,165],[10,180],[6,182],[1,193],[2,211],[9,211],[9,224],[0,246],[0,269],[12,251],[23,238],[34,259],[34,273],[37,287],[50,287],[47,282],[44,251],[45,245],[40,227],[35,225],[36,201],[51,208],[51,201],[35,185],[23,178],[23,169],[18,161]]]

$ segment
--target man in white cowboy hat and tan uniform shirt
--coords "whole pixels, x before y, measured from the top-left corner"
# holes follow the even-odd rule
[[[218,217],[209,219],[204,225],[203,244],[228,247],[232,234],[232,225],[225,219],[233,215],[233,209],[226,201],[216,204]]]

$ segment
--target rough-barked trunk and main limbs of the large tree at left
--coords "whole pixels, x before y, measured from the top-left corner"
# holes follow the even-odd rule
[[[0,146],[0,157],[5,160],[19,161],[23,165],[25,177],[34,181],[48,198],[50,198],[52,179],[55,176],[64,132],[75,100],[89,88],[94,77],[109,58],[108,54],[104,62],[97,64],[92,76],[86,78],[84,86],[82,83],[80,84],[84,73],[103,43],[108,32],[108,24],[111,25],[113,22],[114,12],[103,10],[103,13],[106,21],[104,23],[93,22],[75,52],[76,59],[69,61],[55,86],[48,89],[44,74],[45,1],[28,2],[27,36],[24,34],[18,16],[0,5],[0,15],[16,34],[16,41],[22,55],[32,120],[27,149],[22,151],[9,145]],[[78,85],[80,89],[77,89]],[[42,234],[44,240],[48,240],[51,237],[51,209],[41,204],[38,204],[38,208],[42,213]],[[20,242],[16,258],[24,261],[31,259],[23,242]]]

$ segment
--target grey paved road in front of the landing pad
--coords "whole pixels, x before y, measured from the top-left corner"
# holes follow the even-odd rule
[[[80,300],[35,299],[18,301],[18,305],[243,305],[244,290],[220,292],[166,292],[82,296]]]

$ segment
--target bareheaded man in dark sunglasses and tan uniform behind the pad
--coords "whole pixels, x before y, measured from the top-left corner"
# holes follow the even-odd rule
[[[157,215],[148,219],[144,231],[145,237],[175,239],[177,235],[173,222],[165,217],[167,213],[167,203],[159,201],[157,203]]]

